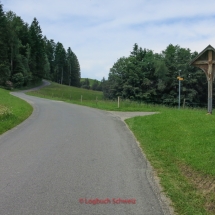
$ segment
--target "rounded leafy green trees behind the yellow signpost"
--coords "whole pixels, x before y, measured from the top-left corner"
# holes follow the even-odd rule
[[[207,103],[207,79],[204,72],[190,65],[197,56],[188,48],[168,45],[160,54],[134,44],[128,57],[121,57],[110,69],[103,92],[106,98],[167,105],[178,104],[181,81],[181,100],[203,106]]]

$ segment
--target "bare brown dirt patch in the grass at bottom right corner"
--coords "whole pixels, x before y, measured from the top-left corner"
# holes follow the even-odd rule
[[[186,165],[180,165],[185,177],[191,182],[205,198],[205,209],[215,214],[215,177],[200,174]]]

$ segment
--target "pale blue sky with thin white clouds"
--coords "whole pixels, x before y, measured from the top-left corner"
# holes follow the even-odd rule
[[[81,77],[101,80],[135,43],[161,53],[169,44],[201,52],[215,46],[215,1],[0,0],[24,22],[76,54]]]

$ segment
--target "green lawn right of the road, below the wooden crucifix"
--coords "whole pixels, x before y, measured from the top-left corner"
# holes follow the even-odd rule
[[[215,116],[170,109],[126,122],[177,212],[215,214],[215,190],[211,189],[215,179]]]

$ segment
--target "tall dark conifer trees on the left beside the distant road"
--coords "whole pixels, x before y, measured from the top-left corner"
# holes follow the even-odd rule
[[[31,25],[0,2],[0,85],[22,87],[42,78],[80,86],[80,65],[69,47],[42,35],[36,18]]]

